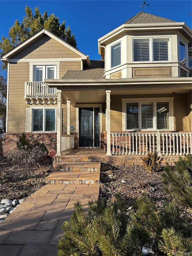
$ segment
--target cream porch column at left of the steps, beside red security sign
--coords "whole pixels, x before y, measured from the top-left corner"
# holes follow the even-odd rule
[[[56,155],[61,155],[61,90],[57,90],[57,153]]]

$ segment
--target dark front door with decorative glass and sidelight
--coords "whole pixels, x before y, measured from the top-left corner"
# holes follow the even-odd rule
[[[79,147],[99,147],[99,107],[79,108]]]

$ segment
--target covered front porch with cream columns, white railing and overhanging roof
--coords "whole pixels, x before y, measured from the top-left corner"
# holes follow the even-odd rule
[[[80,121],[78,116],[80,106],[88,108],[100,106],[98,114],[100,120],[99,146],[85,146],[84,149],[95,148],[98,151],[101,149],[102,154],[106,156],[118,157],[143,156],[148,152],[155,151],[162,156],[180,156],[192,153],[191,82],[188,77],[142,80],[61,79],[46,80],[46,83],[50,87],[57,88],[57,156],[65,155],[69,151],[74,152],[75,148],[81,148],[79,146]],[[179,104],[178,110],[181,96],[182,102]],[[160,130],[154,126],[154,129],[128,130],[126,106],[123,105],[127,98],[138,102],[141,101],[140,99],[145,99],[145,101],[151,99],[150,101],[154,102],[169,100],[169,129]],[[64,110],[62,109],[63,104],[66,106]],[[71,127],[74,127],[74,123],[71,123],[71,108],[76,108],[76,134],[71,131]],[[154,107],[153,112],[155,113],[157,110],[157,107]],[[66,113],[64,120],[66,131],[63,131],[62,111]]]

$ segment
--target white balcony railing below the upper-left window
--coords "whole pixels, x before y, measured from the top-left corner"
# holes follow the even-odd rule
[[[57,88],[50,88],[45,82],[25,82],[25,98],[57,97]]]

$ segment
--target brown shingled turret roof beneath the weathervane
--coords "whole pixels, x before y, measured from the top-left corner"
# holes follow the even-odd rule
[[[134,17],[126,21],[124,24],[139,24],[139,23],[166,23],[166,22],[176,22],[174,20],[169,20],[163,17],[159,17],[153,14],[139,12]]]

